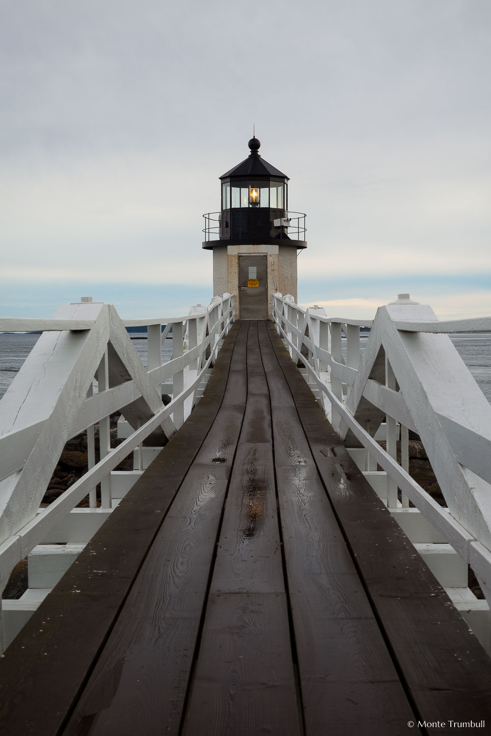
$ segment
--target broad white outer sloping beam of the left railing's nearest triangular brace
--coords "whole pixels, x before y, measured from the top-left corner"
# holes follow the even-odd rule
[[[68,439],[66,417],[80,410],[102,358],[104,341],[109,337],[105,305],[68,305],[57,311],[57,315],[79,316],[84,311],[93,314],[96,309],[99,314],[93,330],[40,336],[25,361],[25,364],[29,361],[27,371],[23,373],[23,366],[10,386],[13,390],[7,391],[1,401],[1,431],[24,428],[43,418],[45,421],[15,486],[8,488],[9,478],[0,484],[0,497],[3,496],[5,503],[0,516],[0,541],[15,534],[35,517]],[[43,339],[45,337],[46,340]],[[33,363],[35,359],[38,360],[37,365]],[[60,367],[60,362],[63,367]],[[7,417],[7,412],[13,408],[14,417]]]

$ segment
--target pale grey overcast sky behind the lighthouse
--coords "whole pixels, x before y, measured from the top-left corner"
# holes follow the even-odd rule
[[[0,314],[208,303],[202,213],[261,155],[299,301],[491,314],[490,0],[0,0]]]

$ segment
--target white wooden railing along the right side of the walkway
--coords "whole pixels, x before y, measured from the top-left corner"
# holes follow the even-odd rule
[[[372,321],[329,318],[275,294],[273,319],[358,467],[490,651],[491,406],[447,333],[491,332],[491,317],[439,322],[400,294]],[[362,325],[371,330],[361,353]],[[409,430],[446,506],[409,475]],[[487,604],[467,592],[467,565]]]

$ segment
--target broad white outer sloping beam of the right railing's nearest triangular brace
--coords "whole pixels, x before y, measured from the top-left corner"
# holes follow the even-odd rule
[[[406,400],[411,397],[411,414],[431,461],[439,486],[454,518],[462,521],[474,537],[491,545],[490,484],[466,478],[448,438],[442,431],[439,414],[482,434],[491,428],[491,406],[450,339],[445,335],[402,333],[392,319],[400,309],[389,305],[379,310],[384,326],[384,345]],[[392,312],[391,312],[392,311]],[[433,312],[425,308],[428,318]],[[418,314],[414,314],[417,319]]]

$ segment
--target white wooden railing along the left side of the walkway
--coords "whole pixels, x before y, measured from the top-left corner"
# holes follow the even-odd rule
[[[112,305],[88,297],[60,307],[53,319],[0,318],[1,332],[43,330],[0,402],[0,591],[14,565],[26,556],[30,589],[20,601],[3,601],[6,644],[149,459],[183,424],[202,394],[234,319],[230,294],[213,297],[208,308],[193,307],[186,316],[169,318],[121,320]],[[146,367],[125,329],[144,326],[148,330]],[[170,333],[172,359],[162,364],[162,344]],[[165,382],[171,378],[169,386]],[[172,392],[167,406],[163,392]],[[110,414],[116,411],[126,420],[120,434],[125,439],[111,448]],[[88,437],[88,472],[40,509],[63,447],[82,431]],[[143,447],[145,440],[155,449]],[[135,470],[115,472],[131,453]],[[101,484],[99,503],[97,484]],[[86,496],[89,507],[75,508]],[[65,562],[60,564],[60,548],[49,549],[49,542],[66,545]],[[56,569],[46,568],[32,587],[30,563],[35,567],[39,556],[48,559],[49,554],[57,558]]]

